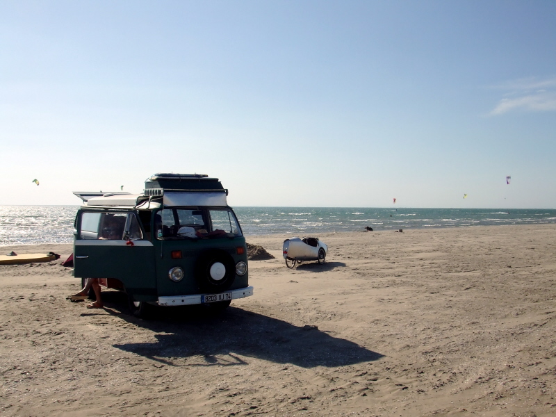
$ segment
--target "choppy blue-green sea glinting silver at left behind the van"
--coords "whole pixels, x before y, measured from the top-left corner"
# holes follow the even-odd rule
[[[79,206],[0,206],[0,246],[72,243]],[[556,223],[555,209],[234,207],[243,234],[286,237],[340,231]]]

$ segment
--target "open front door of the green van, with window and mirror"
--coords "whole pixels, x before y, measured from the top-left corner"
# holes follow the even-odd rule
[[[133,211],[79,211],[74,275],[113,278],[136,301],[156,301],[154,246]]]

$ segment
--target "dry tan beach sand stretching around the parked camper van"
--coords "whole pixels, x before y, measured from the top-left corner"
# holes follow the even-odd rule
[[[219,316],[65,296],[59,261],[0,266],[1,416],[555,416],[556,225],[319,236],[325,265],[250,262]]]

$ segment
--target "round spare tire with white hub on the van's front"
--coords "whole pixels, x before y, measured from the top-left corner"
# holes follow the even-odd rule
[[[223,250],[208,250],[195,263],[195,279],[199,290],[208,294],[222,293],[234,284],[236,263]]]

